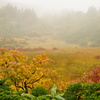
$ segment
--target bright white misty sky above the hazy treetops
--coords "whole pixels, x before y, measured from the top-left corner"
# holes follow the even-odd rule
[[[57,13],[62,10],[86,12],[90,6],[99,8],[100,0],[0,0],[22,8],[33,8],[38,16],[44,13]]]

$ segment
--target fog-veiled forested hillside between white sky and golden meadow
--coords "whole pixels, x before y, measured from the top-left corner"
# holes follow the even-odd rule
[[[8,48],[100,46],[100,9],[37,16],[34,9],[0,7],[0,46]]]

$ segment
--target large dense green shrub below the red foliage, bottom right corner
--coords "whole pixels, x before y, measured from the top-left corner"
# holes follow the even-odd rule
[[[66,100],[100,100],[100,83],[70,84],[64,98]]]

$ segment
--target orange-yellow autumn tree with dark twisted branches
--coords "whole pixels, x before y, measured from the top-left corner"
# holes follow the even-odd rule
[[[47,55],[38,55],[29,61],[29,57],[18,51],[0,49],[0,76],[9,78],[14,83],[16,90],[29,92],[36,86],[43,85],[48,88],[57,83],[58,74],[49,69],[44,69],[50,63]]]

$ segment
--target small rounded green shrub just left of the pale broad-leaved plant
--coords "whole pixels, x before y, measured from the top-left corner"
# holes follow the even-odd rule
[[[38,97],[42,95],[47,95],[49,92],[45,87],[36,87],[31,91],[31,94]]]

